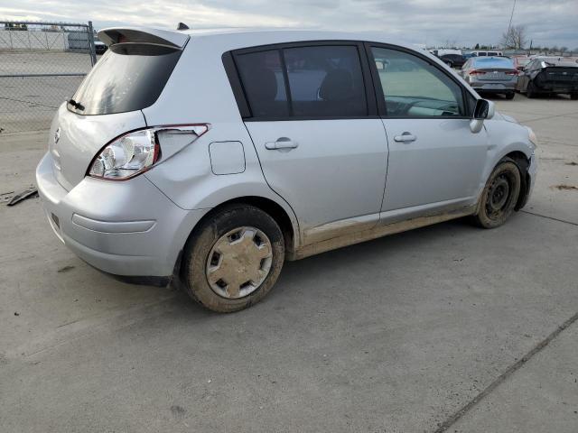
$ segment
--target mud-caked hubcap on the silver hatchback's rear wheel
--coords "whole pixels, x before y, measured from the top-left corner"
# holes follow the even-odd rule
[[[243,298],[265,281],[272,261],[273,247],[266,234],[255,227],[238,227],[222,235],[210,250],[207,281],[223,298]]]

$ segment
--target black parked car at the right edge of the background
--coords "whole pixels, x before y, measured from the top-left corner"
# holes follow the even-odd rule
[[[537,57],[524,68],[517,90],[527,97],[565,94],[578,99],[578,63],[564,57]]]

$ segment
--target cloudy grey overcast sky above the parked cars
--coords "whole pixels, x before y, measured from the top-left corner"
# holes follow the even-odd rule
[[[174,28],[299,27],[391,33],[426,45],[494,44],[513,0],[0,0],[0,19]],[[514,24],[534,46],[578,49],[578,0],[517,0]]]

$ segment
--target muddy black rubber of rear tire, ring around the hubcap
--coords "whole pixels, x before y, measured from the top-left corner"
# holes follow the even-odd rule
[[[255,227],[268,238],[272,252],[270,267],[265,280],[247,296],[226,298],[210,286],[207,276],[209,255],[223,236],[244,226]],[[284,237],[275,219],[257,207],[235,204],[220,209],[195,229],[183,252],[182,281],[189,296],[205,308],[231,313],[247,309],[263,299],[275,285],[283,263]]]

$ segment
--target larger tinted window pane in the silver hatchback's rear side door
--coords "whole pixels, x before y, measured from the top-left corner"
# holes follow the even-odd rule
[[[368,114],[359,52],[355,46],[310,46],[283,50],[293,115]]]

